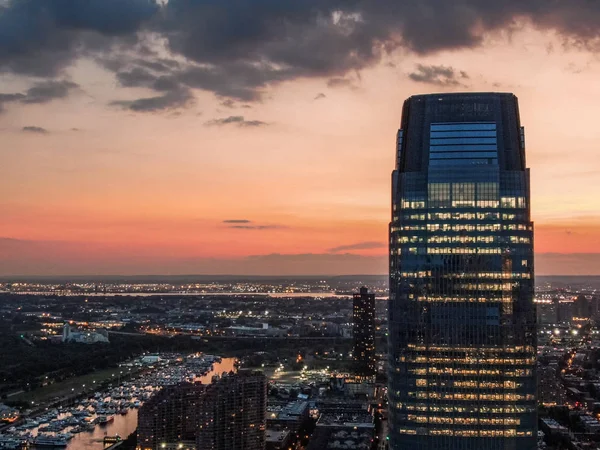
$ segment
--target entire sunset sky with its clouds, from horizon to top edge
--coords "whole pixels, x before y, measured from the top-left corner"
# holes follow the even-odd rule
[[[0,5],[0,275],[384,274],[402,102],[460,91],[519,98],[537,274],[600,274],[600,3]]]

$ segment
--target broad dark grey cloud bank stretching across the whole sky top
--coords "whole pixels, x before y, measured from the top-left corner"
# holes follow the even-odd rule
[[[180,85],[180,90],[202,89],[244,102],[260,100],[272,85],[298,78],[321,77],[330,86],[351,86],[347,74],[359,74],[397,48],[419,55],[475,48],[489,34],[510,31],[521,23],[556,33],[566,47],[600,51],[600,2],[590,0],[8,0],[3,4],[0,71],[56,76],[79,57],[104,58],[105,67],[119,72],[124,86],[141,83],[171,93]],[[159,56],[157,42],[164,42],[173,58]],[[130,73],[136,67],[152,76]],[[467,77],[424,68],[425,72],[411,75],[447,85]],[[159,74],[166,78],[153,87],[157,80],[152,78]]]

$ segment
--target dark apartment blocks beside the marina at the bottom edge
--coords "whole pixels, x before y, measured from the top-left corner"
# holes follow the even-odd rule
[[[165,386],[140,408],[138,450],[264,450],[267,379],[240,370]]]

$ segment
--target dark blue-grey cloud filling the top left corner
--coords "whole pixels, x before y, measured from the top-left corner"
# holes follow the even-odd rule
[[[116,40],[131,42],[159,10],[151,0],[9,0],[0,6],[0,70],[56,75]]]

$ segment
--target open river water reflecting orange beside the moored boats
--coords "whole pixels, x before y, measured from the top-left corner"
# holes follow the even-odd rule
[[[211,382],[213,375],[223,372],[235,371],[235,358],[223,358],[220,363],[214,363],[213,369],[200,378],[202,383]],[[118,434],[123,439],[129,436],[137,428],[137,409],[129,409],[125,415],[115,414],[115,420],[105,426],[96,426],[94,431],[84,431],[76,434],[69,441],[67,450],[102,450],[104,448],[104,436]]]

